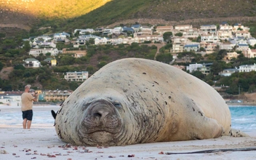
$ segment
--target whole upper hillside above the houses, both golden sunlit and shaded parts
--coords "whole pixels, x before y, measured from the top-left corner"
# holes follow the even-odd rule
[[[40,28],[50,26],[71,32],[120,23],[177,25],[248,22],[256,20],[256,1],[244,0],[2,0],[0,24]],[[0,25],[1,27],[1,25]]]

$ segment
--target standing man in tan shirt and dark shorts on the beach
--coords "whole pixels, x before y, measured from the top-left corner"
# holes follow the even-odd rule
[[[31,128],[31,122],[33,117],[33,101],[37,101],[37,93],[35,94],[35,97],[29,92],[29,89],[31,89],[31,85],[28,84],[25,86],[25,91],[23,92],[23,95],[21,95],[21,111],[23,112],[23,129],[30,129]]]

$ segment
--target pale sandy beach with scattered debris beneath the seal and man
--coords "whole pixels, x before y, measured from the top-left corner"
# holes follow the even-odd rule
[[[34,111],[48,111],[58,106],[34,106]],[[1,111],[19,111],[18,107],[3,107]],[[208,140],[188,140],[168,143],[145,143],[118,147],[73,146],[63,143],[53,124],[22,125],[0,123],[0,159],[256,159],[256,151],[236,151],[256,148],[256,131],[250,137],[219,137]],[[235,148],[235,149],[234,149]],[[214,153],[188,153],[217,149]],[[170,154],[168,153],[177,153]]]

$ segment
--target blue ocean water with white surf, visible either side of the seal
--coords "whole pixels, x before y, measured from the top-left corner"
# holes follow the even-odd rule
[[[232,128],[243,132],[256,132],[256,106],[229,106],[231,111]],[[33,111],[33,125],[53,126],[55,120],[49,111]],[[54,109],[56,112],[57,109]],[[20,125],[22,127],[21,111],[0,111],[0,125]]]

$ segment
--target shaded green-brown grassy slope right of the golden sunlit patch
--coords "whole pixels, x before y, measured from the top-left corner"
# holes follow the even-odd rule
[[[121,20],[153,18],[190,20],[209,17],[255,16],[256,1],[243,0],[113,0],[75,19],[76,25],[110,25]],[[69,26],[70,27],[70,26]]]

